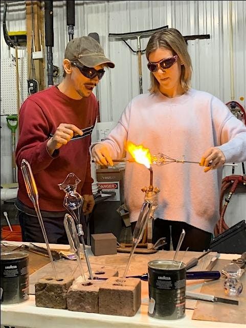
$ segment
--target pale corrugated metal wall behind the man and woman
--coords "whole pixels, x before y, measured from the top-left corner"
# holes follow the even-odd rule
[[[53,64],[62,68],[65,45],[68,42],[66,2],[54,1],[53,10]],[[108,34],[139,32],[140,35],[140,31],[166,25],[180,30],[183,35],[210,34],[210,39],[188,41],[193,63],[192,86],[214,94],[223,102],[228,102],[232,97],[232,82],[234,99],[245,108],[245,99],[240,100],[240,97],[246,97],[245,13],[245,1],[76,1],[74,37],[98,33],[105,54],[116,63],[116,68],[108,70],[100,82],[101,121],[117,121],[130,99],[139,94],[137,54],[131,52],[123,41],[111,39]],[[3,3],[1,58],[7,58],[11,56],[12,49],[8,49],[3,39],[2,21]],[[11,2],[7,13],[8,30],[26,30],[25,24],[25,2]],[[232,52],[230,37],[233,42]],[[147,40],[148,38],[141,39],[142,49],[145,49]],[[133,50],[137,50],[137,38],[128,40],[128,43]],[[230,67],[231,54],[233,75]],[[26,56],[25,49],[19,52],[19,56]],[[142,55],[143,92],[146,92],[149,86],[146,62],[145,55]],[[1,163],[3,162],[5,168],[1,171],[1,183],[11,182],[12,173],[11,150],[7,150],[11,145],[10,132],[5,121],[6,119],[1,117],[1,126],[4,130],[1,130],[1,143],[2,140],[5,142],[5,151],[1,154]],[[238,174],[241,174],[240,167],[238,170]]]

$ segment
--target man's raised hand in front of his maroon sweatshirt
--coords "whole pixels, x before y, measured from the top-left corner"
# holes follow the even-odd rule
[[[54,136],[48,140],[47,149],[50,155],[62,145],[66,145],[74,136],[82,136],[83,132],[74,124],[60,123]]]

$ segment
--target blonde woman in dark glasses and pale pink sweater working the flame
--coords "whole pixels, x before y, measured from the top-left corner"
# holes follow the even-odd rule
[[[191,59],[179,31],[154,33],[146,56],[149,93],[130,101],[108,137],[93,145],[92,156],[101,165],[113,166],[112,158],[129,156],[124,149],[129,140],[149,148],[152,155],[162,152],[174,159],[199,160],[204,171],[189,163],[153,167],[153,186],[161,190],[153,242],[166,237],[168,250],[172,237],[175,249],[184,229],[181,249],[203,251],[210,246],[219,218],[222,165],[246,161],[246,127],[218,98],[190,87]],[[143,204],[141,188],[148,179],[143,165],[126,163],[124,193],[132,229]]]

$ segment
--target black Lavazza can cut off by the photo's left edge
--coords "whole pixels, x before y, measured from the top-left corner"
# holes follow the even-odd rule
[[[21,303],[29,299],[29,255],[23,252],[1,253],[1,304]]]

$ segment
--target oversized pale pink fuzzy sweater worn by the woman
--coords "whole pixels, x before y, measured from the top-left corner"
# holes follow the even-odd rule
[[[124,150],[126,140],[149,148],[152,155],[162,152],[174,159],[184,155],[187,161],[199,162],[205,150],[218,146],[227,163],[246,161],[245,125],[219,99],[194,89],[175,98],[160,92],[133,98],[103,141],[112,159],[130,158]],[[152,168],[153,186],[161,190],[155,217],[213,232],[219,218],[222,168],[206,173],[191,163]],[[131,222],[138,220],[144,201],[141,188],[149,186],[149,177],[144,165],[126,163],[124,193]]]

